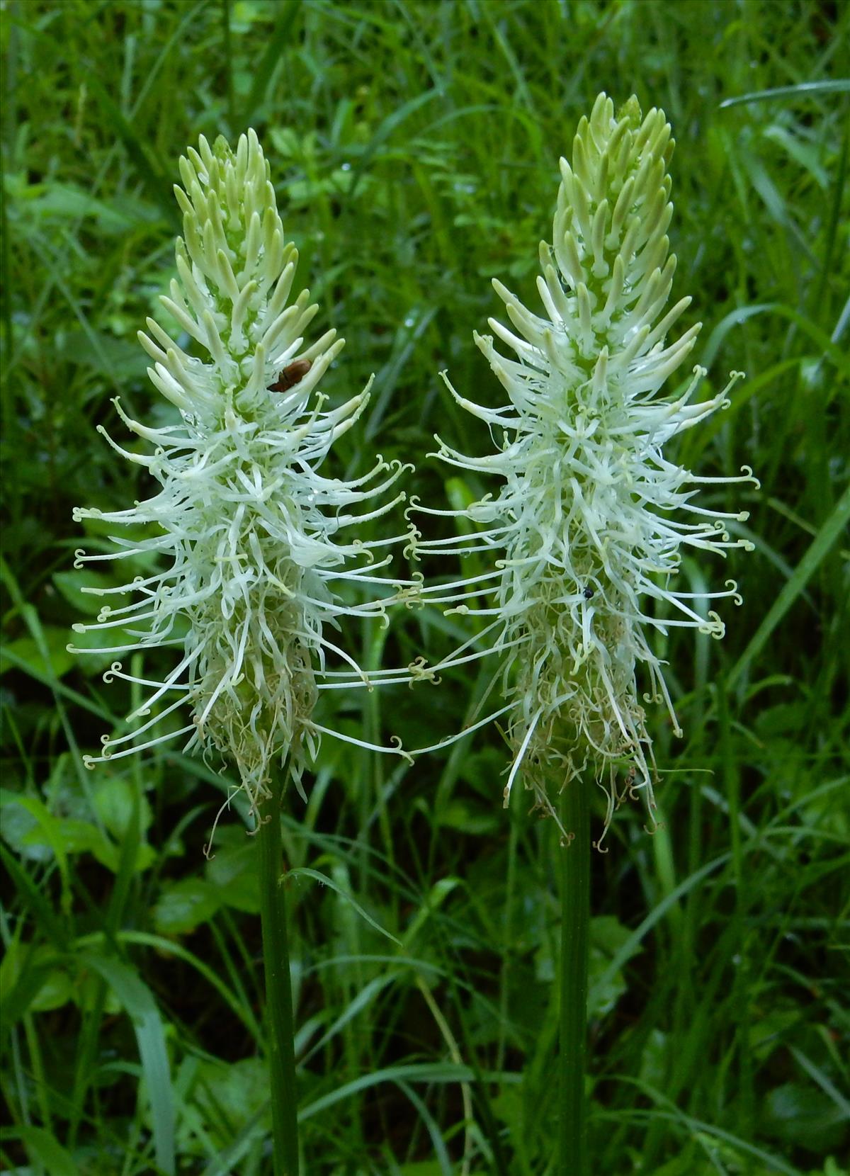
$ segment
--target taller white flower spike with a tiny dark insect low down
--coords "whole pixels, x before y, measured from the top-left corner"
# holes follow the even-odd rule
[[[662,452],[676,434],[727,407],[739,375],[700,403],[690,400],[705,374],[701,368],[684,394],[658,395],[700,329],[697,323],[667,341],[690,303],[683,298],[667,309],[676,266],[667,236],[671,152],[663,112],[641,119],[636,98],[615,116],[611,100],[600,94],[590,119],[581,120],[573,166],[561,160],[553,247],[541,246],[537,288],[546,316],[494,281],[514,329],[494,319],[490,327],[516,358],[501,355],[493,338],[475,335],[509,403],[471,403],[443,374],[455,400],[488,423],[500,452],[470,457],[437,437],[437,456],[498,475],[501,493],[464,510],[426,510],[471,520],[476,529],[417,544],[430,555],[504,549],[491,572],[424,595],[451,612],[475,608],[477,617],[495,617],[480,655],[503,656],[507,706],[496,714],[510,713],[514,753],[506,804],[522,771],[537,804],[555,815],[553,784],[557,791],[591,766],[608,794],[605,828],[620,770],[654,806],[638,664],[649,686],[643,701],[663,701],[680,733],[649,634],[690,626],[720,637],[720,617],[701,615],[697,602],[731,596],[741,603],[731,581],[704,595],[678,590],[682,549],[725,555],[730,547],[751,547],[727,532],[727,521],[744,520],[747,512],[725,514],[692,499],[700,485],[755,482],[752,472],[697,477]],[[488,594],[491,607],[477,607]],[[434,669],[470,660],[474,653],[463,654],[473,643]]]

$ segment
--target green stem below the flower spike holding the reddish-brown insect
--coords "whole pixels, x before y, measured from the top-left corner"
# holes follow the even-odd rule
[[[297,1176],[299,1128],[293,993],[289,978],[286,896],[280,884],[283,873],[280,836],[281,791],[275,793],[269,801],[268,811],[256,835],[260,842],[260,920],[262,957],[266,965],[274,1172],[275,1176]]]

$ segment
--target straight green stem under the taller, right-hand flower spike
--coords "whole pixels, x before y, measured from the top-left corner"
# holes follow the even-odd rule
[[[560,1176],[587,1176],[588,1140],[584,1065],[588,1021],[588,933],[590,924],[590,814],[584,781],[561,794],[568,842],[561,866],[561,1130]],[[571,836],[570,836],[571,835]]]

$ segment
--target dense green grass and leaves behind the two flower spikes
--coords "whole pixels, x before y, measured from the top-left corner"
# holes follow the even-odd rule
[[[471,346],[489,278],[536,305],[557,158],[604,88],[667,111],[676,296],[704,322],[707,389],[748,373],[677,455],[751,465],[762,490],[728,500],[756,552],[687,567],[737,576],[745,604],[723,643],[667,646],[685,737],[655,716],[660,824],[625,806],[594,855],[593,1170],[846,1171],[849,18],[825,0],[4,5],[6,1170],[270,1171],[254,847],[232,813],[205,858],[226,781],[200,761],[83,770],[132,700],[65,649],[91,609],[72,506],[146,493],[94,427],[121,435],[119,393],[166,412],[135,330],[172,276],[179,154],[257,129],[316,328],[348,340],[324,389],[376,372],[335,468],[413,459],[410,490],[439,506],[491,487],[444,485],[426,456],[435,430],[489,445],[436,373],[496,402]],[[411,613],[348,640],[406,663],[451,636]],[[486,681],[337,699],[323,721],[422,746]],[[290,797],[287,858],[327,878],[288,883],[309,1176],[553,1170],[557,848],[520,789],[502,810],[504,766],[495,729],[413,769],[328,740],[308,804]]]

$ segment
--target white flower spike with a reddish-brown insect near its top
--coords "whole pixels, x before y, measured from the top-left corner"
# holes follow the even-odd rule
[[[210,148],[201,138],[199,151],[189,148],[180,160],[180,173],[183,188],[174,191],[185,238],[176,241],[179,281],[162,303],[203,358],[187,354],[147,320],[149,334],[140,332],[139,339],[154,361],[148,375],[179,409],[180,423],[148,428],[116,400],[123,423],[154,450],[145,456],[107,440],[147,469],[159,493],[127,510],[74,512],[78,520],[153,530],[145,539],[115,537],[118,549],[106,554],[76,553],[76,567],[127,559],[153,570],[120,588],[83,588],[100,595],[132,592],[138,599],[107,606],[96,624],[74,629],[123,628],[125,641],[107,652],[174,646],[178,663],[162,682],[135,679],[120,662],[113,664],[107,681],[153,688],[128,716],[146,721],[120,737],[105,736],[101,755],[87,762],[188,736],[187,750],[217,749],[236,764],[256,814],[269,794],[275,759],[288,754],[300,787],[306,760],[326,730],[313,717],[319,691],[410,680],[406,670],[367,675],[326,636],[342,614],[386,617],[387,606],[407,593],[374,574],[391,559],[382,553],[376,561],[374,553],[409,534],[336,541],[337,533],[356,533],[357,523],[404,497],[384,496],[402,466],[379,456],[354,481],[316,473],[333,441],[362,414],[368,388],[336,409],[324,409],[326,397],[315,390],[343,340],[328,330],[304,346],[317,306],[309,303],[308,290],[287,306],[297,253],[285,243],[255,133],[241,135],[235,153],[223,139]],[[349,513],[363,502],[377,505]],[[167,566],[160,570],[156,561]],[[337,592],[349,599],[361,586],[374,599],[346,604],[339,599]],[[179,708],[190,710],[190,721],[156,734],[160,721]]]

